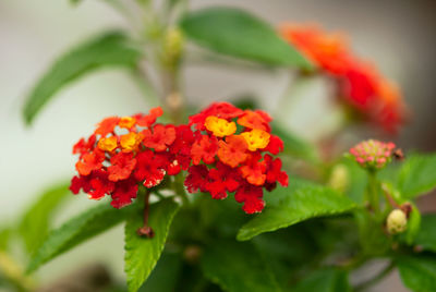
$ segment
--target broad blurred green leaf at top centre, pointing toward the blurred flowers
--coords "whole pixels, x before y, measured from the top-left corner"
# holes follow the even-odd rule
[[[311,70],[313,65],[263,20],[232,8],[208,8],[181,21],[186,37],[219,53],[270,65]]]

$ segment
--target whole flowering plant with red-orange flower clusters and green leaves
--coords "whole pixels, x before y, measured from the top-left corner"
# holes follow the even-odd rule
[[[238,9],[187,11],[185,1],[132,2],[108,1],[134,28],[58,59],[23,112],[31,124],[68,82],[113,65],[131,70],[149,107],[97,123],[73,145],[68,185],[44,193],[17,228],[0,230],[0,281],[33,291],[44,264],[124,222],[126,281],[92,266],[47,291],[365,291],[393,269],[407,288],[436,291],[436,216],[422,216],[415,200],[436,187],[436,156],[339,138],[349,124],[399,133],[409,111],[392,81],[341,34],[317,26],[274,28]],[[290,87],[325,78],[347,119],[307,142],[287,127],[286,108],[264,111],[252,98],[198,106],[181,86],[190,52],[289,69]],[[71,193],[100,202],[53,228],[57,207],[82,197]],[[14,241],[24,243],[21,256]],[[23,254],[26,263],[16,261]],[[382,268],[362,277],[375,259]]]

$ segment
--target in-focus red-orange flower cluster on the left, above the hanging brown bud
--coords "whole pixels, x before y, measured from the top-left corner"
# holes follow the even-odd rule
[[[193,133],[185,125],[156,123],[161,114],[161,108],[155,108],[149,114],[102,120],[93,135],[73,147],[80,155],[78,175],[70,190],[77,194],[82,188],[92,199],[110,195],[111,205],[121,208],[136,197],[140,183],[153,187],[166,174],[186,170]]]

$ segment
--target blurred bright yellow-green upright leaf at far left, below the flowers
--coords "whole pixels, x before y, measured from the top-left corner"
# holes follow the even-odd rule
[[[69,184],[56,185],[44,192],[23,215],[19,231],[29,254],[44,242],[55,211],[70,194]]]

